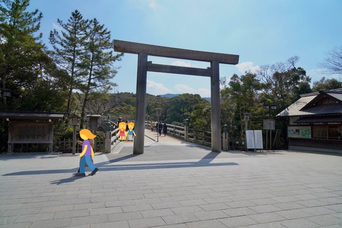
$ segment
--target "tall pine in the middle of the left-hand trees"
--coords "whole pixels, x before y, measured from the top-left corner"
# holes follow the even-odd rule
[[[84,50],[85,35],[88,20],[84,20],[82,15],[75,10],[67,23],[57,19],[61,31],[54,29],[50,31],[49,42],[53,47],[50,54],[54,62],[69,75],[68,80],[68,103],[66,112],[71,112],[72,91],[79,89],[81,77],[87,74],[81,56]]]

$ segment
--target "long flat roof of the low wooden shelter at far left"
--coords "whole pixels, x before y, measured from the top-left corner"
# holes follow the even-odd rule
[[[26,119],[26,120],[58,120],[67,113],[62,112],[21,112],[21,111],[0,111],[0,119]]]

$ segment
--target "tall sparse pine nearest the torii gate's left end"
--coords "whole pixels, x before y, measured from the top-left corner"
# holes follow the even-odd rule
[[[112,64],[116,60],[121,60],[123,55],[123,53],[113,55],[110,32],[105,25],[100,25],[96,18],[89,22],[85,36],[88,39],[84,42],[81,61],[88,74],[82,80],[82,87],[80,87],[84,93],[80,128],[83,128],[85,107],[88,101],[104,96],[112,87],[117,86],[110,81],[117,73]]]

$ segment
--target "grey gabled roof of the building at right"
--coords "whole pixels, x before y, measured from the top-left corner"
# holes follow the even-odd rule
[[[328,97],[333,104],[316,105],[321,99]],[[277,116],[303,116],[319,114],[342,114],[342,89],[321,90],[317,93],[304,94],[292,105],[284,109]]]

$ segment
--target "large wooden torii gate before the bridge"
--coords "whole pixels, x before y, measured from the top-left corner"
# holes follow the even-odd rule
[[[211,79],[211,150],[221,152],[219,63],[235,65],[239,61],[239,55],[163,47],[122,40],[113,40],[113,46],[114,51],[117,52],[138,54],[135,105],[135,132],[137,135],[144,135],[147,71],[206,76]],[[210,67],[203,69],[153,64],[152,62],[147,62],[147,55],[205,61],[210,62]],[[136,137],[133,144],[133,154],[143,153],[144,137]]]

